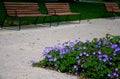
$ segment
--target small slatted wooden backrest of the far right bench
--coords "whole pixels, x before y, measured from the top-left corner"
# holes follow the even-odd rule
[[[116,12],[120,10],[117,3],[105,3],[105,7],[108,12]]]

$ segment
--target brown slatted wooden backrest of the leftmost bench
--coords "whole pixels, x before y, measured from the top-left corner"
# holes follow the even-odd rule
[[[5,11],[8,16],[40,14],[37,3],[30,2],[4,2]]]

